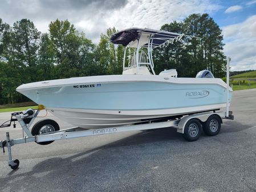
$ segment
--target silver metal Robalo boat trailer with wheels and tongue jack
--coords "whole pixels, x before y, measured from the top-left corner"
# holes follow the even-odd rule
[[[97,136],[100,134],[110,134],[134,130],[148,130],[173,127],[177,129],[177,132],[182,133],[185,140],[196,141],[202,130],[209,136],[214,136],[220,132],[222,119],[234,119],[232,112],[226,116],[226,112],[201,112],[192,115],[185,115],[180,117],[169,117],[165,119],[152,119],[147,122],[141,122],[141,124],[133,124],[127,126],[118,126],[111,128],[100,129],[82,129],[78,127],[59,130],[59,125],[50,119],[44,119],[36,122],[30,131],[30,127],[39,112],[43,110],[43,105],[38,105],[38,109],[27,109],[25,112],[11,113],[11,119],[9,124],[2,124],[0,128],[11,126],[13,123],[16,127],[15,121],[18,121],[23,130],[23,137],[17,139],[11,139],[9,132],[6,132],[6,140],[0,141],[0,148],[3,148],[5,153],[5,147],[9,153],[9,166],[11,169],[17,169],[19,166],[19,160],[13,160],[11,154],[11,147],[17,144],[23,144],[26,142],[36,142],[40,145],[48,145],[55,140],[65,140],[68,138]],[[81,130],[82,129],[82,130]],[[27,136],[24,136],[24,132]]]

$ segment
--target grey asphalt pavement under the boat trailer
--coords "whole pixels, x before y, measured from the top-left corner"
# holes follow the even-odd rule
[[[233,92],[235,120],[195,142],[165,128],[15,145],[17,170],[0,151],[0,191],[256,191],[255,100],[256,89]],[[22,137],[20,126],[0,128],[0,140],[7,131]]]

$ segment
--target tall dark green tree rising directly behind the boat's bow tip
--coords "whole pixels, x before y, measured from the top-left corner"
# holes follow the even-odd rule
[[[5,48],[8,63],[18,68],[23,83],[38,80],[36,66],[38,64],[40,32],[29,19],[14,23],[10,32],[10,43]]]

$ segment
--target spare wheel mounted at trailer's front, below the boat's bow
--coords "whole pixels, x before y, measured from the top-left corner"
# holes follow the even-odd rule
[[[45,120],[36,122],[36,124],[31,129],[31,133],[33,136],[35,136],[35,135],[40,135],[44,133],[55,132],[57,130],[59,130],[59,125],[56,121],[51,119],[45,119]],[[51,144],[52,142],[54,141],[44,141],[44,142],[36,142],[36,143],[40,145],[48,145],[48,144]]]

